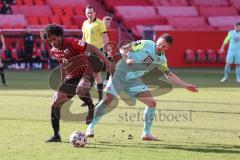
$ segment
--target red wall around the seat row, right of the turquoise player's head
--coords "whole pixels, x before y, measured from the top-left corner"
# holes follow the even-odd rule
[[[157,37],[164,32],[157,32]],[[224,38],[225,31],[169,31],[174,38],[174,43],[167,50],[168,65],[170,67],[222,67],[223,62],[184,62],[186,49],[214,49],[219,50]]]

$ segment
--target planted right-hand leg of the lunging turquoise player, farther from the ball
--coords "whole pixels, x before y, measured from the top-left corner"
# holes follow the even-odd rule
[[[150,91],[144,91],[137,95],[137,98],[146,105],[144,111],[144,128],[142,133],[142,140],[157,140],[151,134],[152,122],[154,120],[156,101],[152,97]]]

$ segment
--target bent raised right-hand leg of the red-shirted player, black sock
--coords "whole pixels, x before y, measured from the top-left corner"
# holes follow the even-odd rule
[[[92,97],[89,93],[89,90],[92,87],[93,81],[94,81],[93,77],[92,78],[83,77],[80,80],[80,82],[78,83],[78,86],[76,88],[76,94],[88,106],[88,114],[86,116],[86,124],[91,123],[93,116],[94,116],[94,104],[92,101]]]

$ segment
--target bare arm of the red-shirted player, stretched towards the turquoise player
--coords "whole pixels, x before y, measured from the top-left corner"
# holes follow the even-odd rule
[[[104,53],[102,53],[97,47],[87,44],[86,51],[95,53],[106,65],[106,68],[110,71],[110,73],[114,73],[114,65],[107,59]]]

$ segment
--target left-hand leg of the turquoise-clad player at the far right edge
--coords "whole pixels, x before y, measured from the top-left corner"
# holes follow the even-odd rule
[[[231,64],[233,63],[234,60],[234,53],[229,51],[226,56],[226,65],[224,68],[224,77],[221,79],[220,82],[226,82],[229,78],[229,74],[231,72]]]

